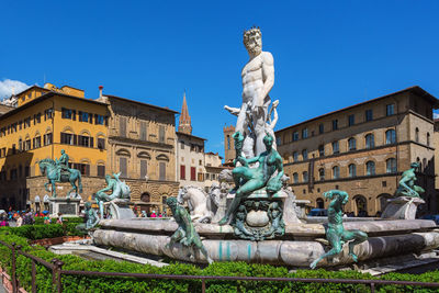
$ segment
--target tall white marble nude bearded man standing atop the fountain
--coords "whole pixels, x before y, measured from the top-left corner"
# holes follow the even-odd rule
[[[236,131],[245,136],[244,157],[251,158],[264,151],[263,137],[270,132],[268,106],[271,103],[269,92],[274,84],[274,61],[271,53],[262,52],[259,27],[245,31],[243,42],[250,57],[241,71],[243,103],[239,109],[227,105],[225,109],[238,116]]]

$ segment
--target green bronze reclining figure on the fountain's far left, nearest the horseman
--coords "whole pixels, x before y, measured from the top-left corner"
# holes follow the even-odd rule
[[[106,188],[101,189],[95,193],[95,201],[99,205],[99,213],[103,215],[103,204],[105,202],[111,202],[114,200],[125,200],[130,201],[131,190],[130,187],[125,183],[125,181],[121,181],[119,177],[121,173],[113,173],[114,179],[111,178],[110,174],[105,176]],[[109,195],[106,192],[111,191]],[[112,215],[114,217],[114,215]]]

